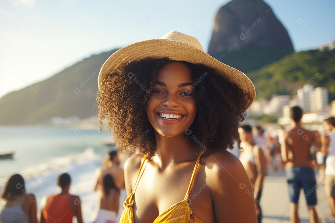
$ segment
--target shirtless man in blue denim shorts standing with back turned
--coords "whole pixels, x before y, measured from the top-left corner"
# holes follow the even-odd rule
[[[311,158],[311,145],[316,141],[315,134],[301,126],[303,111],[299,107],[292,107],[290,119],[292,129],[284,132],[284,143],[281,144],[281,156],[286,164],[286,177],[290,197],[290,219],[293,223],[300,223],[298,216],[298,201],[300,189],[304,188],[307,200],[310,222],[319,222],[315,211],[316,180]],[[314,148],[315,149],[315,148]],[[300,200],[301,201],[301,200]]]

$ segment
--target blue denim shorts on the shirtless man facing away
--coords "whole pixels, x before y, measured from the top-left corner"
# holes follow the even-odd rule
[[[307,205],[316,205],[317,183],[313,169],[302,166],[292,166],[292,168],[286,172],[286,177],[290,202],[302,204],[306,198]],[[301,188],[304,189],[305,194],[303,198],[299,199]]]

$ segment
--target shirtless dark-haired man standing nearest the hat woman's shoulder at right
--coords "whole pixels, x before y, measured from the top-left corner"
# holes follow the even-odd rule
[[[252,128],[250,125],[241,126],[239,128],[239,133],[242,141],[241,147],[244,149],[239,158],[254,189],[254,198],[257,204],[257,221],[260,223],[262,219],[262,211],[259,204],[265,177],[266,158],[263,150],[256,146],[253,141]]]

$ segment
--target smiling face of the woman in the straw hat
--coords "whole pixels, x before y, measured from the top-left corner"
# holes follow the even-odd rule
[[[158,72],[147,115],[160,135],[184,135],[192,125],[197,112],[192,84],[191,71],[183,63],[166,64]]]

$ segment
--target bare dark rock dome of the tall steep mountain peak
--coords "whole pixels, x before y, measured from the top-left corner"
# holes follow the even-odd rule
[[[209,54],[268,46],[293,52],[286,29],[264,1],[233,0],[219,9],[215,16]]]

